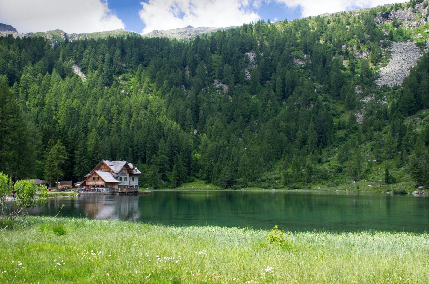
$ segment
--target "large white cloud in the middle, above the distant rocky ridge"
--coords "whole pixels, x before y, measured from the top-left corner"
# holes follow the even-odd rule
[[[186,27],[229,27],[257,21],[252,0],[149,0],[142,2],[142,33]]]

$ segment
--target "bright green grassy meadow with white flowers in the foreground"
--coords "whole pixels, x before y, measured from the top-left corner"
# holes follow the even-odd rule
[[[0,283],[428,283],[427,233],[287,233],[43,217],[1,232]]]

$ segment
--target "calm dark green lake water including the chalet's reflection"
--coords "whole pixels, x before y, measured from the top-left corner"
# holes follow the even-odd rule
[[[217,225],[287,231],[427,232],[429,198],[320,191],[152,191],[144,195],[51,198],[41,215],[175,226]]]

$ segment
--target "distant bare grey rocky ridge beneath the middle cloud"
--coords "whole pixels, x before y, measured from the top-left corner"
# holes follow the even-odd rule
[[[172,30],[153,30],[150,33],[143,34],[147,37],[168,37],[169,39],[192,39],[195,36],[217,32],[218,30],[229,30],[235,27],[192,27],[186,26],[184,28]]]

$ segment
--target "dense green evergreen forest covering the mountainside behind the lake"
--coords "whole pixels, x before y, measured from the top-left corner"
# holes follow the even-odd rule
[[[191,41],[0,37],[0,172],[77,182],[104,158],[137,164],[142,187],[428,186],[428,53],[402,86],[375,84],[409,39],[375,17],[399,8]]]

